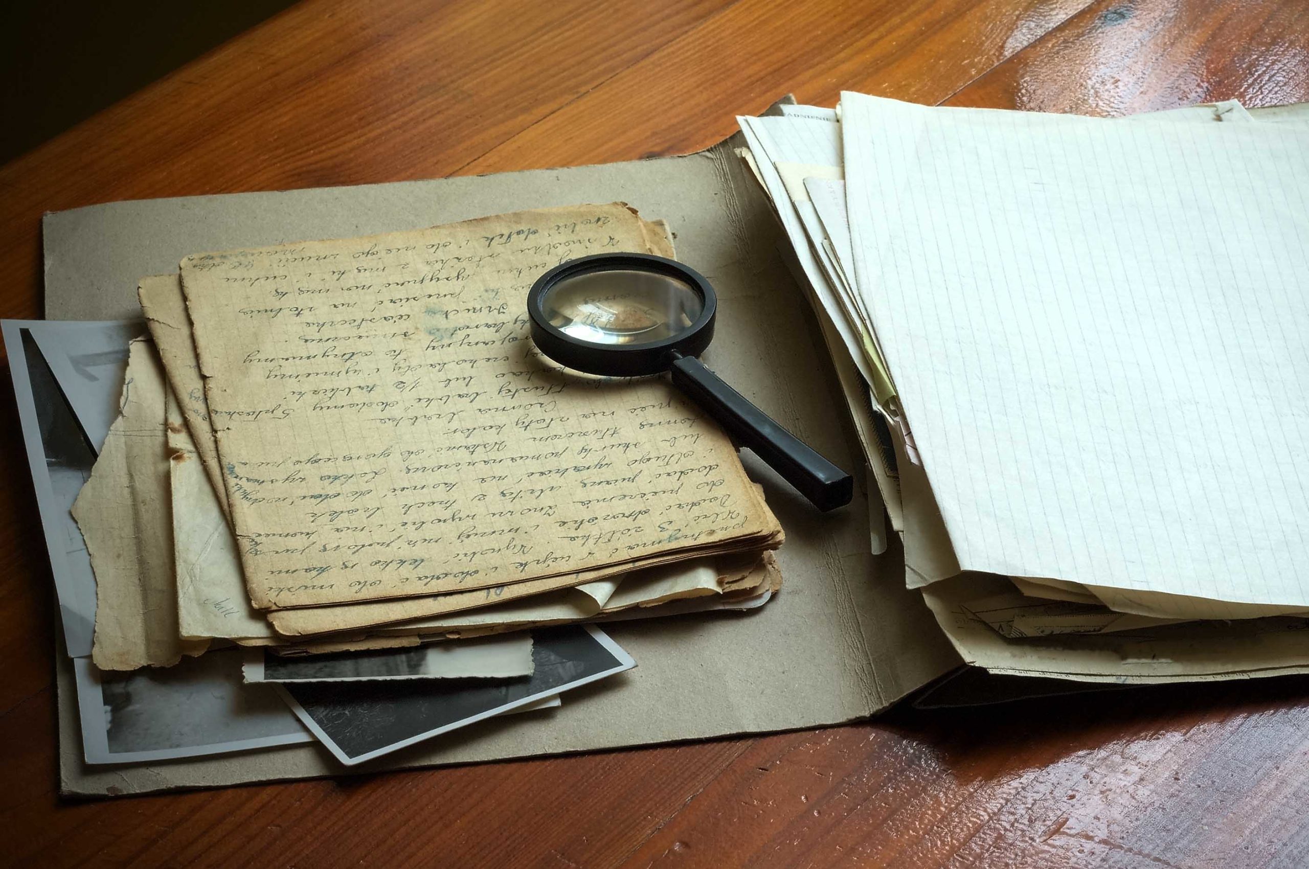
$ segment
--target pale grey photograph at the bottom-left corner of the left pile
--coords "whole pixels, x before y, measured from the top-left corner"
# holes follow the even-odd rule
[[[241,682],[236,649],[171,667],[109,673],[86,658],[77,670],[86,763],[135,763],[312,742],[270,686]]]

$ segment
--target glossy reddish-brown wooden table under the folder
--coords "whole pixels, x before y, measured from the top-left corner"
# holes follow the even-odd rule
[[[1102,114],[1304,101],[1309,8],[306,0],[0,170],[0,315],[41,315],[43,211],[679,153],[842,88]],[[0,412],[5,864],[1309,865],[1300,679],[63,804],[50,575]]]

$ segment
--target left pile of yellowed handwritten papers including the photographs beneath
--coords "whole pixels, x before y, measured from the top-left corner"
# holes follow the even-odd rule
[[[609,250],[674,253],[554,208],[198,251],[144,322],[5,323],[88,762],[359,763],[635,666],[597,622],[764,605],[783,534],[726,436],[528,336],[533,280]]]

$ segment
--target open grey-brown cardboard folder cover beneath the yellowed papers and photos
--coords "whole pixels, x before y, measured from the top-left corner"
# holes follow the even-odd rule
[[[704,361],[842,467],[863,461],[805,297],[780,260],[776,219],[730,140],[685,157],[480,178],[109,203],[45,217],[46,314],[141,315],[136,284],[192,253],[343,238],[484,215],[627,202],[668,220],[678,258],[719,292]],[[898,547],[869,554],[867,503],[822,514],[749,453],[750,476],[787,531],[784,585],[767,606],[606,624],[636,669],[571,692],[545,716],[492,720],[415,746],[377,768],[617,749],[867,717],[958,666]],[[140,793],[343,773],[295,746],[98,771],[81,763],[71,666],[62,661],[65,793]],[[374,767],[369,764],[372,771]],[[111,790],[113,788],[113,790]]]

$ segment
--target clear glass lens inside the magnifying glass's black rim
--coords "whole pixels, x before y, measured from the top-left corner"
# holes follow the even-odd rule
[[[556,281],[541,308],[550,325],[569,338],[623,346],[685,332],[704,310],[704,298],[672,275],[610,270]]]

